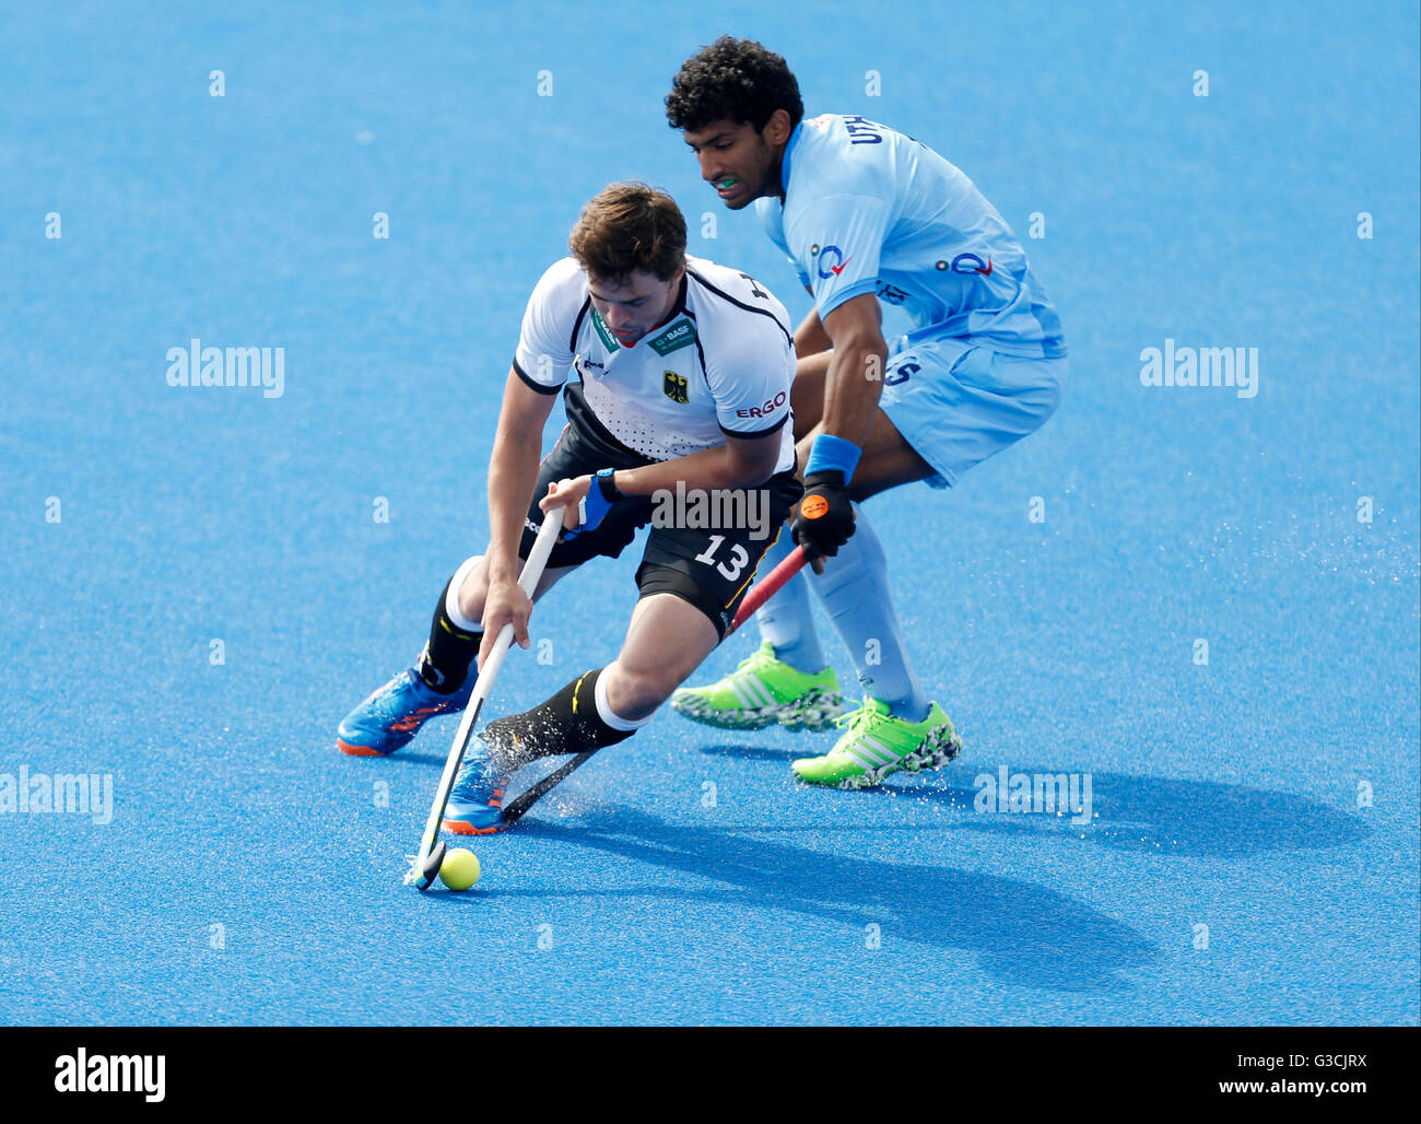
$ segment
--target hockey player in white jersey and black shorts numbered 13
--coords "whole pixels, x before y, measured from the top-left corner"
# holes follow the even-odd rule
[[[489,547],[439,594],[415,665],[337,735],[344,753],[384,757],[435,715],[462,710],[506,624],[527,648],[539,597],[652,524],[617,658],[470,740],[443,817],[460,834],[506,826],[503,796],[527,762],[610,746],[651,720],[723,638],[803,490],[784,307],[747,274],[688,257],[675,200],[641,183],[588,202],[570,249],[523,317],[489,463]],[[558,394],[567,426],[540,462]],[[678,519],[698,496],[722,502]],[[530,598],[520,560],[556,507],[563,533]]]

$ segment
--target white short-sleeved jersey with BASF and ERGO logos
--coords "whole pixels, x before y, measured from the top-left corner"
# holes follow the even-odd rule
[[[725,433],[780,432],[776,472],[794,468],[789,313],[752,277],[686,259],[671,317],[632,347],[618,344],[587,294],[573,257],[533,288],[513,369],[534,391],[557,394],[570,372],[597,421],[652,460],[725,445]]]

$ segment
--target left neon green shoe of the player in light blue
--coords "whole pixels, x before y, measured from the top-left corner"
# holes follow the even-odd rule
[[[833,668],[809,675],[774,658],[769,641],[710,686],[682,688],[671,709],[722,730],[760,730],[779,722],[791,730],[827,730],[844,709]]]

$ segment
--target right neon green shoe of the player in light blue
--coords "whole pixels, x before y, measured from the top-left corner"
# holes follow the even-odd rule
[[[938,703],[922,722],[894,718],[888,703],[864,699],[857,710],[836,725],[848,726],[823,757],[801,757],[790,764],[794,776],[810,784],[837,789],[871,789],[890,773],[936,769],[962,752],[962,739]]]

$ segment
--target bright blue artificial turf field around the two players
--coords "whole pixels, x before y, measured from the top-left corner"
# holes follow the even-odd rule
[[[185,7],[0,14],[0,783],[114,784],[0,814],[0,1022],[1417,1023],[1412,4]],[[807,310],[664,124],[722,31],[958,163],[1064,321],[1040,433],[868,509],[966,750],[850,796],[790,779],[826,739],[668,712],[421,897],[453,723],[335,723],[483,547],[580,205],[665,186]],[[193,337],[284,347],[283,396],[171,388]],[[1167,338],[1259,348],[1258,396],[1142,387]],[[543,602],[493,713],[615,655],[634,568]],[[1000,766],[1097,818],[978,811]]]

